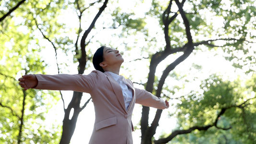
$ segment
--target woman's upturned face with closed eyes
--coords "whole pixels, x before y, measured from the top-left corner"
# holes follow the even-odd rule
[[[110,65],[122,64],[123,62],[122,55],[119,53],[119,50],[105,47],[103,49],[103,62]]]

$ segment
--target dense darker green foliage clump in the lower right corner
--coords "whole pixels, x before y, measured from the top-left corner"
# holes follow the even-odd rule
[[[182,104],[178,105],[176,112],[179,118],[178,123],[185,130],[193,126],[212,125],[218,119],[217,126],[207,131],[194,131],[185,136],[178,136],[176,141],[183,140],[190,144],[219,143],[221,141],[216,139],[219,137],[231,144],[255,142],[256,108],[254,105],[256,97],[253,90],[256,85],[255,77],[253,75],[252,79],[247,82],[239,79],[230,82],[223,81],[219,76],[211,75],[202,81],[199,91],[191,91],[181,99]],[[226,111],[218,118],[221,109],[226,109]]]

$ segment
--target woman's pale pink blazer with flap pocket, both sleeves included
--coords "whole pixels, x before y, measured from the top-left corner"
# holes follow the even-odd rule
[[[36,74],[38,85],[35,89],[71,90],[89,93],[95,108],[95,123],[89,144],[133,144],[132,112],[138,103],[158,109],[166,108],[163,99],[146,90],[134,88],[132,101],[126,110],[122,89],[109,72],[92,71],[88,75],[81,74]]]

